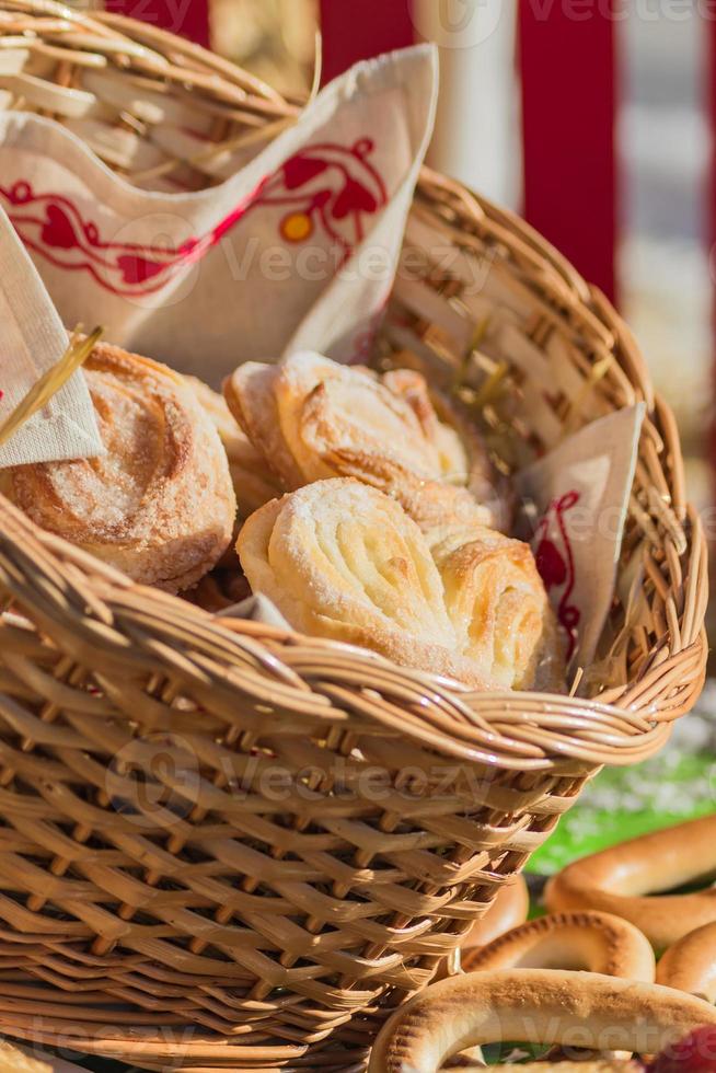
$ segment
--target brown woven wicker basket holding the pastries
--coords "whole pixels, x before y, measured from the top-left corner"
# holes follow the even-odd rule
[[[117,16],[4,0],[0,58],[19,35],[42,74],[2,79],[9,106],[63,122],[108,69],[114,105],[70,122],[138,182],[216,180],[206,143],[168,138],[185,108],[222,160],[297,113]],[[654,753],[697,696],[705,543],[628,331],[524,223],[427,171],[407,244],[424,270],[395,287],[381,359],[460,376],[506,468],[647,404],[593,695],[475,694],[216,621],[2,501],[0,601],[33,628],[0,621],[0,1030],[157,1069],[349,1065],[342,1045],[431,979],[585,780]]]

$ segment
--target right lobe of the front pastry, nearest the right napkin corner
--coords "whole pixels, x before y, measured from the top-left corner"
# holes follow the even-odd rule
[[[561,691],[564,655],[529,544],[484,526],[427,534],[463,654],[506,689]]]

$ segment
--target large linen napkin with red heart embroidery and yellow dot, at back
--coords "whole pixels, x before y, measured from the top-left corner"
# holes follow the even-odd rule
[[[101,72],[83,77],[102,92]],[[232,159],[235,171],[198,193],[130,185],[79,137],[89,120],[3,113],[0,206],[66,324],[91,310],[113,343],[213,385],[242,361],[307,347],[361,360],[436,93],[432,46],[359,64],[249,163],[245,150],[219,154],[220,173]]]

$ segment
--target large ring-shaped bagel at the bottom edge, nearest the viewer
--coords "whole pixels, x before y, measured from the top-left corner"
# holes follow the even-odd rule
[[[592,972],[506,969],[451,977],[383,1026],[368,1073],[435,1073],[453,1054],[505,1040],[654,1054],[716,1009],[654,983]]]

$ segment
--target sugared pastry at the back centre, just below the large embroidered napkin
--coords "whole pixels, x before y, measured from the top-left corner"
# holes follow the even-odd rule
[[[241,366],[224,394],[287,491],[351,476],[392,495],[421,528],[494,520],[498,478],[487,487],[482,441],[463,440],[438,418],[419,373],[381,379],[297,354],[278,366]]]

